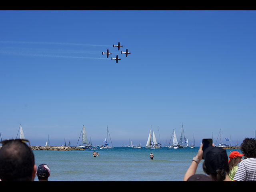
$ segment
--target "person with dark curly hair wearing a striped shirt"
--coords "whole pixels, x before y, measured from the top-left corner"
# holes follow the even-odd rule
[[[240,150],[244,154],[244,160],[238,165],[233,180],[256,181],[256,139],[245,138]]]

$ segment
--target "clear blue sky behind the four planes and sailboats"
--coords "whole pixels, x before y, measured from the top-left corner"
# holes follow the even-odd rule
[[[2,139],[21,124],[31,145],[74,146],[84,125],[100,145],[108,125],[114,146],[145,146],[152,125],[164,145],[183,123],[197,146],[220,129],[240,144],[256,130],[255,23],[255,11],[0,11]]]

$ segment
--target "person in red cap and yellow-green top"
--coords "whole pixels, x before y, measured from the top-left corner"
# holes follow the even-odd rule
[[[240,163],[242,161],[242,156],[244,156],[243,154],[240,154],[238,151],[232,151],[230,154],[229,154],[229,160],[228,160],[228,166],[229,166],[229,178],[231,180],[233,180],[235,174],[236,174],[236,170],[238,168],[238,163]]]

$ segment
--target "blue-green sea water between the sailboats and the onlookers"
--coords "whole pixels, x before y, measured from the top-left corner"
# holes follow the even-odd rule
[[[198,149],[114,147],[33,152],[37,166],[46,163],[50,167],[49,181],[182,181]],[[94,151],[99,156],[94,157]],[[229,155],[232,150],[226,151]],[[154,160],[150,160],[151,152]],[[197,174],[204,174],[202,163],[203,160],[198,165]]]

